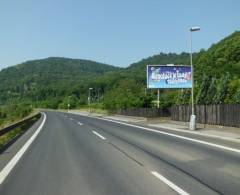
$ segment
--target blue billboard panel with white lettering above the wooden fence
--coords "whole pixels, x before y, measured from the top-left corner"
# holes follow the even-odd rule
[[[191,67],[186,65],[148,65],[147,88],[191,88]]]

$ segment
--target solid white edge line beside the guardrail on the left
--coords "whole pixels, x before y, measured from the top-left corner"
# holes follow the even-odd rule
[[[38,127],[38,129],[35,131],[35,133],[30,137],[30,139],[23,145],[23,147],[15,154],[15,156],[8,162],[8,164],[1,170],[0,172],[0,185],[3,183],[5,178],[8,176],[8,174],[11,172],[11,170],[14,168],[14,166],[18,163],[18,161],[21,159],[23,154],[26,152],[26,150],[29,148],[31,143],[36,139],[37,135],[42,130],[43,125],[46,121],[46,114],[43,114],[43,121],[41,125]]]

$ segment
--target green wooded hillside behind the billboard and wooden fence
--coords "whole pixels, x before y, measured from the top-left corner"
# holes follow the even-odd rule
[[[112,90],[105,95],[105,106],[111,109],[153,106],[156,90],[146,91],[146,66],[149,64],[190,64],[190,57],[188,53],[160,53],[131,64],[122,71],[121,79],[114,80],[115,85],[112,84]],[[194,53],[193,64],[197,104],[240,103],[240,32],[206,51]],[[162,90],[160,104],[162,107],[189,104],[190,94],[187,89]]]

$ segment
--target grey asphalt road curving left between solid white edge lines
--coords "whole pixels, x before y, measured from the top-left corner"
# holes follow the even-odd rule
[[[240,194],[238,152],[97,118],[45,113],[41,132],[0,185],[1,195]]]

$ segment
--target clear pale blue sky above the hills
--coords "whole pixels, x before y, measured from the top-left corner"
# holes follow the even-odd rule
[[[239,0],[1,0],[0,69],[47,57],[126,67],[240,30]]]

